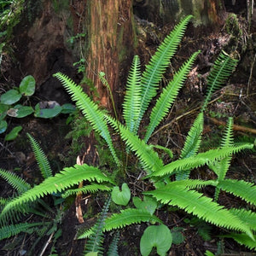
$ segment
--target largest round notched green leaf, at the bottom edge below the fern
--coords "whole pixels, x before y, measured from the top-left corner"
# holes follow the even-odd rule
[[[148,256],[153,247],[156,247],[159,255],[166,255],[172,246],[172,234],[164,224],[149,226],[144,230],[140,241],[140,249],[143,256]]]

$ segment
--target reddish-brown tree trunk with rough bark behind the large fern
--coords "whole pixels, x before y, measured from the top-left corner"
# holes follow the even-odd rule
[[[108,89],[98,74],[106,74],[105,78],[118,104],[116,91],[119,89],[119,73],[125,60],[131,61],[135,42],[131,0],[87,1],[86,9],[86,75],[96,87],[102,106],[112,108]]]

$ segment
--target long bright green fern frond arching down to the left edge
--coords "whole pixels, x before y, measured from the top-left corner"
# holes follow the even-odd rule
[[[113,181],[105,176],[99,169],[87,165],[75,165],[67,167],[60,173],[55,174],[54,177],[48,177],[43,183],[38,184],[32,189],[27,190],[25,193],[16,197],[3,208],[0,214],[0,221],[8,218],[12,211],[20,209],[22,212],[22,205],[29,201],[36,201],[44,195],[61,192],[64,189],[70,188],[74,184],[78,184],[83,180],[96,181],[98,183]]]

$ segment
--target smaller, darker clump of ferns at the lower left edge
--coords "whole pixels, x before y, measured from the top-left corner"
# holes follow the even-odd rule
[[[27,134],[27,136],[31,143],[32,151],[37,160],[42,177],[44,179],[52,177],[52,170],[49,166],[49,161],[44,154],[44,151],[42,148],[40,148],[37,141],[30,134]],[[19,198],[20,195],[23,195],[32,189],[32,186],[29,183],[26,183],[24,179],[13,172],[0,169],[0,177],[3,177],[3,179],[6,180],[6,182],[8,182],[11,187],[16,190],[16,193],[13,195],[13,197],[4,199],[1,198],[2,209],[8,205],[10,201]],[[58,195],[53,195],[55,205],[59,204],[58,198]],[[61,201],[63,201],[63,199],[61,199]],[[31,218],[31,215],[37,215],[38,218],[43,218],[43,220],[40,222],[28,222],[28,219]],[[58,224],[61,223],[61,218],[61,208],[56,208],[55,212],[47,202],[40,198],[38,198],[38,200],[35,202],[28,201],[22,205],[12,208],[9,216],[0,218],[0,223],[2,226],[0,228],[0,240],[20,234],[20,232],[26,232],[29,234],[37,233],[39,237],[50,235],[57,230]]]

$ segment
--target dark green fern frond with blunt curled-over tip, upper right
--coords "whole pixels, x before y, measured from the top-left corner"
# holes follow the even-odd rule
[[[232,58],[230,55],[224,52],[224,50],[218,55],[216,61],[214,61],[213,67],[210,70],[210,74],[207,77],[207,97],[202,106],[202,111],[207,108],[208,102],[212,97],[212,93],[215,90],[220,89],[229,79],[230,74],[234,72],[238,60]]]

